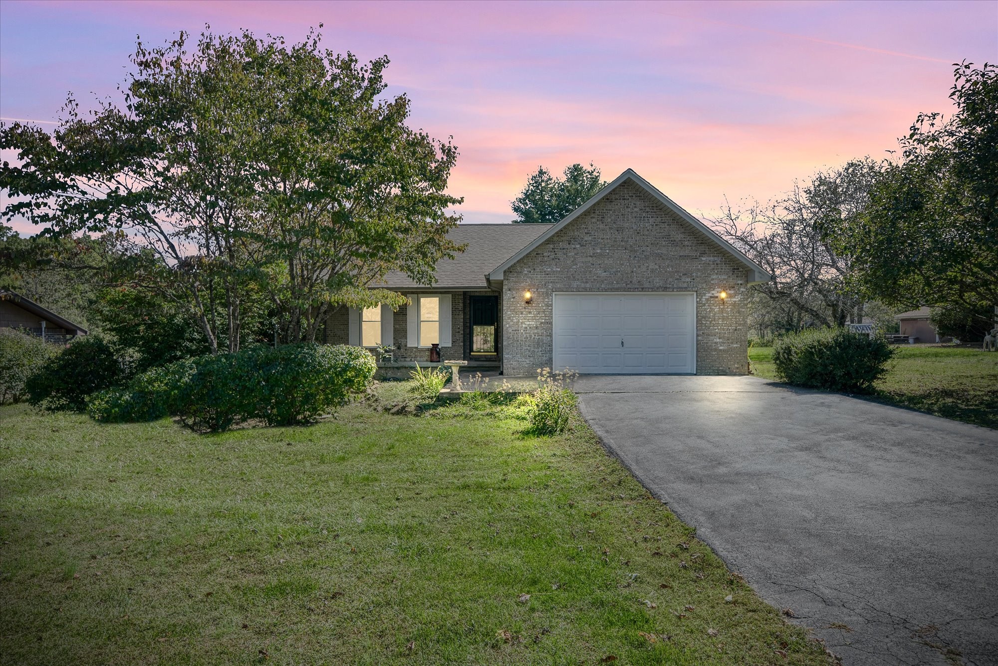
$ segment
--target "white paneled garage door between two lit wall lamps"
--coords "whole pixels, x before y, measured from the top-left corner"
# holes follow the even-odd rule
[[[695,373],[696,309],[689,292],[556,293],[555,370]]]

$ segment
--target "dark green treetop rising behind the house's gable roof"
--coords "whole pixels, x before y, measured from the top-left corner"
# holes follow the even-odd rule
[[[527,184],[513,199],[517,223],[553,224],[593,197],[606,186],[600,169],[575,164],[566,166],[563,177],[551,174],[544,166],[527,177]]]

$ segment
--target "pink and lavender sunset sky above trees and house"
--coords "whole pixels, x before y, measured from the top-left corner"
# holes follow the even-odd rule
[[[537,166],[632,167],[694,214],[883,157],[998,60],[996,2],[0,2],[0,117],[114,96],[135,39],[241,28],[391,59],[411,125],[454,137],[466,222],[512,219]],[[53,125],[43,125],[52,128]],[[5,154],[4,159],[13,156]],[[17,227],[32,232],[30,225]]]

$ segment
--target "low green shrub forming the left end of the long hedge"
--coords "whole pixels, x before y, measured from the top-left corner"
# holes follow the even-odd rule
[[[105,389],[87,398],[87,414],[103,423],[155,421],[180,409],[180,389],[195,373],[185,359],[147,370],[125,388]]]

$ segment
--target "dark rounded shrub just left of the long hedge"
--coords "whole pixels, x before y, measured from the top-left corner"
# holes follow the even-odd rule
[[[77,338],[25,382],[28,403],[50,411],[82,412],[87,396],[121,384],[125,367],[97,335]]]

